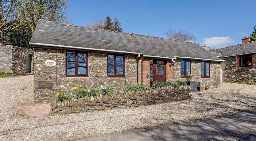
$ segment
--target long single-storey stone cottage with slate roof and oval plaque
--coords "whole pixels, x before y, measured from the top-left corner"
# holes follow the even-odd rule
[[[201,89],[221,86],[223,60],[195,43],[39,20],[30,44],[35,103],[75,84],[122,90],[193,74]]]

